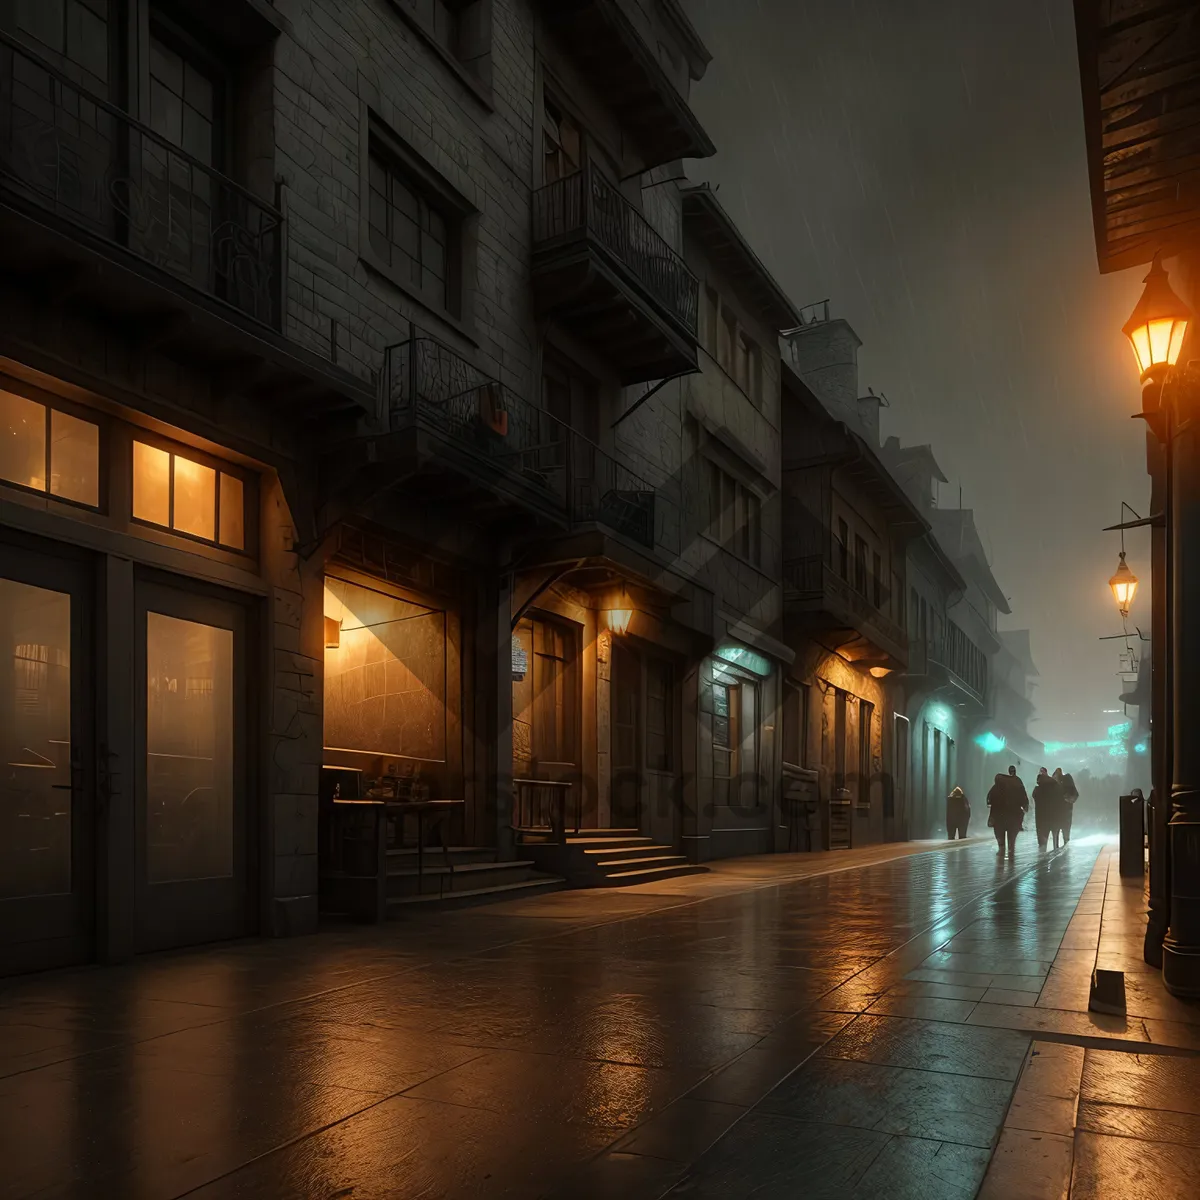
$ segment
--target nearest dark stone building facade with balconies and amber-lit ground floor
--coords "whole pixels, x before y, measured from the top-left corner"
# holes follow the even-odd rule
[[[456,888],[750,846],[696,833],[778,587],[695,546],[680,7],[0,12],[2,970],[407,899],[422,820]]]

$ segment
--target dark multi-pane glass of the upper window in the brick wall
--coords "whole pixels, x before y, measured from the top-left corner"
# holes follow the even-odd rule
[[[457,316],[460,215],[372,134],[367,232],[388,277],[428,307]]]

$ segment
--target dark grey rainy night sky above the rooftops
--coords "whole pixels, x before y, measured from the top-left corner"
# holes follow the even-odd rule
[[[930,442],[1042,672],[1043,740],[1117,718],[1108,577],[1146,514],[1120,329],[1145,271],[1092,242],[1070,0],[689,0],[714,54],[690,163],[799,305],[857,330],[883,436]],[[1127,535],[1148,576],[1145,534]],[[1148,592],[1148,584],[1145,587]],[[1134,611],[1148,628],[1148,604]]]

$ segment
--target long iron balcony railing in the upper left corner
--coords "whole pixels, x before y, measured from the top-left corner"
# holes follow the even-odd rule
[[[281,328],[280,211],[4,34],[0,192]]]

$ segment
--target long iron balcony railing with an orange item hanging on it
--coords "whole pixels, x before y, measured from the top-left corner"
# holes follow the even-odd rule
[[[384,390],[395,431],[421,427],[497,470],[570,526],[602,524],[654,550],[654,488],[594,442],[431,337],[389,347]]]

